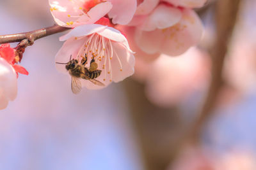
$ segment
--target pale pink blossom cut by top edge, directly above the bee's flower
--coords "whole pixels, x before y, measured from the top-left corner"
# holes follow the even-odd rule
[[[136,0],[49,0],[56,23],[63,27],[93,24],[108,14],[113,24],[131,21]]]

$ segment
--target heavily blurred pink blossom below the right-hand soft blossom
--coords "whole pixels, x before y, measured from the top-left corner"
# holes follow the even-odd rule
[[[144,63],[136,62],[134,76],[145,82],[146,96],[157,106],[168,108],[179,104],[193,92],[207,87],[209,56],[198,48],[191,48],[179,57],[162,54],[151,64],[143,66]]]

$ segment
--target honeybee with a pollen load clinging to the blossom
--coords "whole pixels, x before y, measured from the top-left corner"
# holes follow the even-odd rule
[[[87,55],[85,54],[81,63],[78,63],[77,59],[72,59],[70,55],[69,62],[61,63],[56,62],[56,64],[66,64],[66,69],[71,76],[71,90],[74,94],[78,94],[82,89],[82,84],[80,78],[91,81],[95,85],[105,86],[104,83],[101,83],[95,78],[100,76],[101,70],[97,69],[98,64],[95,62],[94,58],[90,62],[90,67],[85,66],[87,62]]]

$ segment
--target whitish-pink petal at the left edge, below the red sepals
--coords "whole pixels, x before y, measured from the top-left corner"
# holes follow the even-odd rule
[[[13,101],[17,96],[17,78],[13,67],[0,58],[0,90],[1,99]],[[4,96],[4,97],[3,97]],[[2,101],[0,101],[1,103]]]

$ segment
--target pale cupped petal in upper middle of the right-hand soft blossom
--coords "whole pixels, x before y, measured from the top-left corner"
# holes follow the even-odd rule
[[[157,8],[148,16],[144,24],[140,26],[143,31],[154,31],[155,29],[165,29],[177,24],[182,13],[178,8],[160,4]]]

